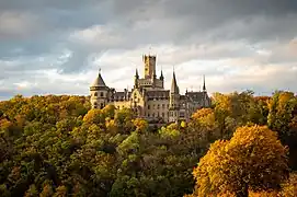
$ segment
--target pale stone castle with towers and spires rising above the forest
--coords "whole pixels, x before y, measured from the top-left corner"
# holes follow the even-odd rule
[[[156,56],[142,56],[145,66],[144,78],[139,78],[138,70],[134,77],[134,88],[128,91],[117,92],[108,88],[99,72],[98,78],[90,86],[92,108],[103,108],[112,104],[117,108],[132,108],[137,117],[148,120],[173,123],[187,121],[192,114],[202,107],[210,105],[207,95],[205,79],[203,91],[181,94],[175,72],[173,70],[171,89],[164,89],[164,77],[161,71],[160,78],[156,74]]]

